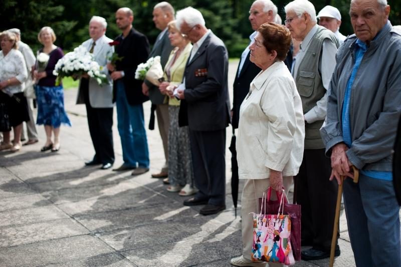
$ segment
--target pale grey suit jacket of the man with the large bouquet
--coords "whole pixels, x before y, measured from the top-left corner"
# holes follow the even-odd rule
[[[92,108],[112,108],[113,107],[113,81],[107,71],[108,59],[113,55],[114,47],[109,46],[109,43],[113,42],[110,38],[105,35],[96,41],[96,46],[93,51],[95,61],[102,67],[100,71],[106,74],[108,84],[100,86],[95,79],[89,79],[89,102]],[[87,50],[92,46],[92,39],[89,39],[82,43]],[[81,86],[81,82],[80,82]],[[85,104],[84,95],[78,87],[77,104]]]

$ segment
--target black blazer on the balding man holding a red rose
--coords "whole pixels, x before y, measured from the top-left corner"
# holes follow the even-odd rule
[[[121,61],[116,63],[117,71],[124,71],[122,78],[125,86],[125,94],[130,105],[142,104],[149,98],[142,94],[142,81],[135,79],[135,71],[140,63],[146,62],[149,55],[149,42],[143,34],[131,29],[127,37],[118,36],[115,41],[120,42],[115,47],[115,52]],[[116,100],[116,82],[113,83],[113,102]]]

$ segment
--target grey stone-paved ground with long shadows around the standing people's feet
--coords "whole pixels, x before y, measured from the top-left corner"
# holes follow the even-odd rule
[[[230,85],[237,65],[230,63]],[[133,177],[129,171],[85,167],[94,150],[85,107],[75,105],[76,94],[76,89],[65,91],[73,126],[62,127],[59,152],[40,152],[43,127],[38,127],[39,143],[14,154],[0,152],[0,266],[231,266],[230,258],[241,254],[242,240],[231,198],[229,150],[227,209],[199,215],[199,206],[183,206],[185,197],[167,192],[161,179],[150,177],[164,163],[157,129],[147,131],[150,172]],[[149,102],[144,110],[147,123]],[[122,155],[114,122],[116,167]],[[231,128],[227,147],[230,133]],[[340,232],[341,255],[334,265],[354,266],[343,213]],[[295,266],[328,266],[328,259]]]

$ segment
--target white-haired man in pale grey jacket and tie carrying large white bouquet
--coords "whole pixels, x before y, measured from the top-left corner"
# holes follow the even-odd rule
[[[100,65],[100,72],[107,77],[107,83],[99,85],[96,79],[84,75],[79,84],[77,104],[85,104],[89,132],[92,138],[95,155],[85,165],[102,165],[109,169],[114,163],[113,150],[113,87],[108,74],[107,63],[114,52],[110,46],[113,40],[105,36],[107,22],[104,18],[93,16],[89,22],[90,39],[82,43],[94,60]]]

